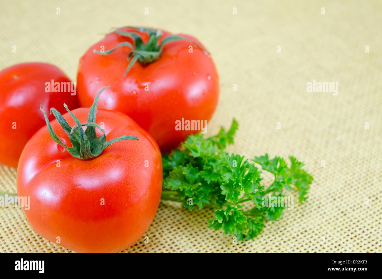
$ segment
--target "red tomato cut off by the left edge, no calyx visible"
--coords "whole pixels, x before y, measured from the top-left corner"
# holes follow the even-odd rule
[[[75,92],[61,92],[61,87],[59,92],[45,92],[45,83],[52,80],[70,82],[60,69],[47,63],[22,63],[0,71],[0,164],[16,168],[25,144],[45,125],[40,103],[45,110],[60,106],[63,112],[64,102],[70,109],[78,108]]]

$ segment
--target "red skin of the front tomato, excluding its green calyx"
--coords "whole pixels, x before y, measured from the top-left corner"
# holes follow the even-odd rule
[[[72,112],[87,122],[89,108]],[[63,116],[70,126],[75,124],[68,113]],[[122,113],[98,109],[96,123],[102,122],[108,140],[126,134],[139,140],[115,142],[99,156],[81,160],[54,142],[45,126],[25,146],[17,169],[18,196],[31,197],[30,209],[23,207],[31,227],[51,242],[59,237],[58,245],[76,252],[130,247],[159,206],[162,161],[155,141]],[[70,146],[58,121],[50,123]]]

